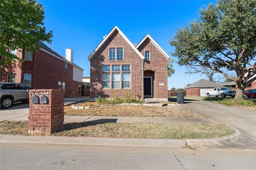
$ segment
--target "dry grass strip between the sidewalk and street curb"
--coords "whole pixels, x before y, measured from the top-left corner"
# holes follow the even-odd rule
[[[4,121],[0,133],[28,135],[28,121]],[[52,136],[110,137],[141,139],[199,139],[230,135],[233,130],[222,124],[203,123],[65,123]],[[43,135],[43,134],[40,134]]]

